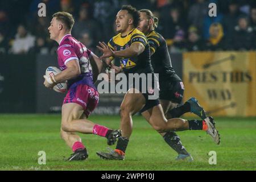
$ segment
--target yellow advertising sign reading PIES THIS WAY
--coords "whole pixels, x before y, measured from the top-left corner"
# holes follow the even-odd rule
[[[215,116],[256,116],[255,52],[183,53],[184,101]]]

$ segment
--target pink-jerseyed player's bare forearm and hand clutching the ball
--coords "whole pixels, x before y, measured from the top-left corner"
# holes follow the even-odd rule
[[[59,73],[58,75],[55,75],[52,77],[47,77],[44,75],[44,78],[46,79],[44,81],[44,85],[46,87],[53,88],[53,86],[56,85],[57,83],[70,80],[81,74],[79,61],[77,59],[70,60],[65,65],[67,69],[65,69],[63,72]]]

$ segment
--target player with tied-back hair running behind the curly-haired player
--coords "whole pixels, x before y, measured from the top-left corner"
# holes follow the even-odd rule
[[[201,119],[205,119],[207,116],[203,107],[193,97],[177,107],[183,99],[184,85],[172,68],[166,40],[155,31],[155,28],[158,27],[158,18],[148,9],[139,10],[139,14],[140,22],[137,28],[146,35],[150,44],[151,64],[154,72],[159,74],[159,99],[166,118],[178,118],[184,113],[192,112]],[[179,136],[174,131],[160,134],[166,143],[179,154],[176,159],[190,158],[192,160],[191,155],[185,150]]]

